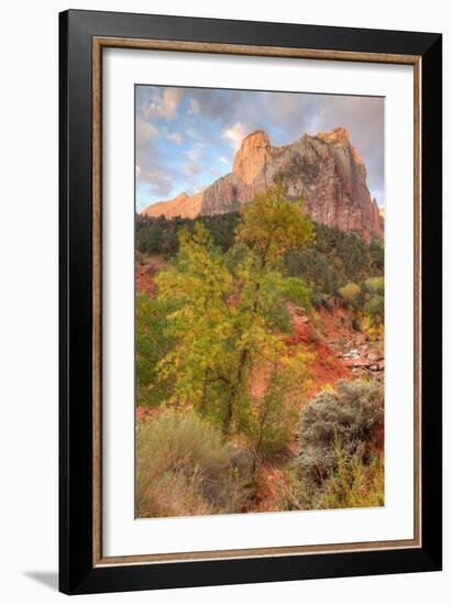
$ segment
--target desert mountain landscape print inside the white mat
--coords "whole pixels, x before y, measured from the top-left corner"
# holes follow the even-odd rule
[[[384,98],[135,87],[135,516],[379,507]]]

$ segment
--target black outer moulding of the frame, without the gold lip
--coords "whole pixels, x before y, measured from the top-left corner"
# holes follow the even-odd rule
[[[421,56],[421,548],[93,568],[92,36]],[[69,10],[59,14],[59,590],[85,594],[440,570],[441,34]]]

